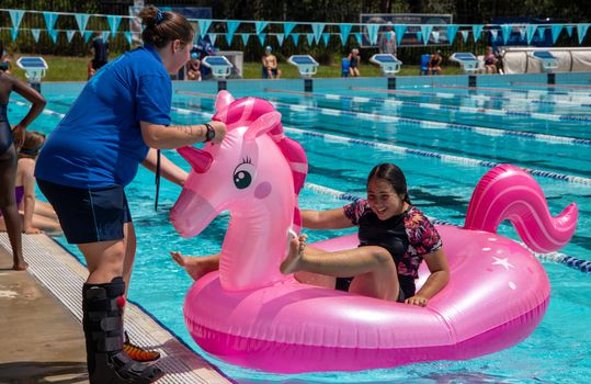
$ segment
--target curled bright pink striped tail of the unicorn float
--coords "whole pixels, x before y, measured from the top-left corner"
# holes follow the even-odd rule
[[[527,247],[548,253],[570,240],[578,216],[577,204],[571,203],[553,217],[534,178],[521,168],[501,165],[488,171],[476,185],[464,227],[496,233],[508,218]]]

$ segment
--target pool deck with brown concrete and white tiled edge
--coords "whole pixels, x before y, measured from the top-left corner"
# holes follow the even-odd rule
[[[81,327],[87,269],[45,235],[23,235],[27,271],[12,271],[0,234],[0,383],[88,383]],[[139,307],[126,307],[126,328],[139,346],[158,350],[158,383],[230,383]]]

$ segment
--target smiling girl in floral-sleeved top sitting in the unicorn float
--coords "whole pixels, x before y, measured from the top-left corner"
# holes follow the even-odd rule
[[[450,280],[441,238],[427,216],[410,203],[406,178],[395,165],[382,163],[370,172],[367,200],[336,210],[303,211],[302,216],[305,228],[359,226],[361,244],[354,249],[326,252],[306,246],[305,235],[292,238],[281,271],[296,273],[299,281],[304,280],[300,272],[329,275],[337,278],[337,283],[332,280],[331,286],[342,291],[425,306]],[[219,268],[219,255],[184,257],[178,251],[170,253],[194,280]],[[414,279],[422,259],[431,274],[414,292]]]

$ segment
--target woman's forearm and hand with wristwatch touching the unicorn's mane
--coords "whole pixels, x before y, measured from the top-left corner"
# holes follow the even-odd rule
[[[219,144],[226,135],[226,124],[209,122],[215,131],[214,144]],[[206,140],[205,125],[161,125],[140,122],[141,137],[146,145],[156,149],[174,149]]]

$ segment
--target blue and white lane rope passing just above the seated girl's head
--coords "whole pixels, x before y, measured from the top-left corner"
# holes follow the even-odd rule
[[[202,116],[207,116],[208,118],[213,116],[212,113],[182,109],[182,108],[177,108],[177,106],[173,106],[172,110],[178,113],[183,113],[183,114],[200,114]],[[473,159],[469,157],[431,153],[428,150],[407,148],[407,147],[397,146],[393,144],[362,140],[359,138],[350,138],[350,137],[323,134],[323,133],[318,133],[318,132],[310,132],[310,131],[305,131],[305,129],[299,129],[299,128],[294,128],[294,127],[288,127],[288,126],[284,126],[283,128],[285,132],[297,133],[304,136],[320,137],[323,139],[328,139],[330,142],[337,142],[337,143],[343,143],[343,144],[364,145],[368,147],[385,149],[385,150],[396,153],[396,154],[401,154],[401,155],[410,154],[410,155],[418,155],[422,157],[430,157],[430,158],[441,159],[442,161],[445,161],[445,162],[454,162],[454,163],[462,163],[465,166],[486,167],[486,168],[495,168],[500,165],[499,162],[495,162],[495,161],[485,161],[485,160]],[[564,181],[568,181],[572,183],[591,185],[591,179],[589,178],[582,178],[582,177],[572,176],[572,174],[556,173],[556,172],[550,172],[550,171],[543,171],[543,170],[532,169],[532,168],[523,168],[523,167],[521,168],[527,173],[534,174],[541,178],[564,180]]]

